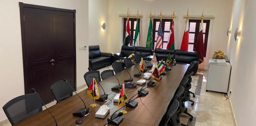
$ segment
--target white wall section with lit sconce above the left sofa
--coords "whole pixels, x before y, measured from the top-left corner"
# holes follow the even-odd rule
[[[102,22],[106,30],[101,30]],[[108,0],[89,0],[89,45],[100,45],[108,52]]]

